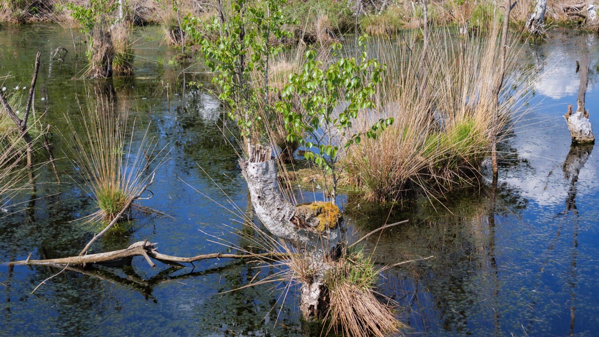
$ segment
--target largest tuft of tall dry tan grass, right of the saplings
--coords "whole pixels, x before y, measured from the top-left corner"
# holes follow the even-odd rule
[[[392,116],[391,128],[347,154],[346,185],[370,200],[394,200],[419,185],[427,192],[451,189],[477,179],[493,137],[505,133],[530,88],[512,91],[509,77],[499,103],[493,89],[500,73],[498,28],[488,35],[455,40],[432,31],[428,46],[379,43],[386,79],[377,88],[377,109],[356,127]],[[515,65],[512,43],[507,69]],[[511,84],[510,84],[511,83]],[[507,89],[505,89],[507,88]],[[498,118],[494,118],[497,114]],[[496,122],[495,122],[496,121]]]

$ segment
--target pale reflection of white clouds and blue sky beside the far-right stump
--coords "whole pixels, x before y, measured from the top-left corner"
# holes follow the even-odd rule
[[[509,141],[525,165],[510,167],[504,173],[504,179],[541,206],[562,202],[567,194],[562,166],[570,149],[570,133],[562,115],[567,112],[568,104],[573,104],[576,109],[580,80],[576,73],[576,60],[580,59],[579,50],[580,46],[585,46],[584,41],[588,50],[596,49],[592,45],[594,40],[591,35],[582,34],[573,38],[555,32],[555,37],[546,43],[524,49],[537,67],[542,65],[541,77],[534,83],[536,95],[530,102],[532,111],[516,124],[516,137]],[[598,55],[589,55],[591,70],[585,106],[589,110],[591,124],[597,129],[599,97],[594,84],[597,83],[595,64]],[[591,154],[580,171],[578,191],[581,194],[594,193],[599,187],[596,155]]]

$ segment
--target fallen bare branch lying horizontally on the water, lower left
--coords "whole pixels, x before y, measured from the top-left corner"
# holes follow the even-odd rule
[[[50,266],[64,266],[68,264],[69,266],[74,265],[85,265],[92,263],[105,263],[110,261],[117,260],[126,260],[131,259],[135,256],[143,256],[146,258],[146,261],[152,267],[156,267],[156,264],[153,263],[151,258],[161,261],[162,263],[169,264],[171,266],[180,266],[180,263],[192,263],[195,261],[207,260],[210,258],[271,258],[271,259],[280,259],[280,258],[288,258],[290,254],[288,253],[264,253],[264,254],[222,254],[222,253],[212,253],[212,254],[202,254],[196,255],[193,257],[177,257],[171,255],[165,255],[158,252],[156,249],[157,243],[150,243],[147,240],[138,241],[133,243],[129,248],[120,249],[118,251],[110,251],[110,252],[102,252],[98,254],[87,254],[87,255],[78,255],[71,257],[62,257],[62,258],[49,258],[46,260],[22,260],[22,261],[11,261],[7,264],[9,266],[16,265],[50,265]]]

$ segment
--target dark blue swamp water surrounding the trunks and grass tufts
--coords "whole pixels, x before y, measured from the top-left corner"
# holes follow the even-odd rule
[[[111,96],[117,112],[129,111],[137,125],[151,122],[150,136],[170,149],[150,186],[153,198],[140,204],[174,218],[135,213],[126,234],[102,238],[92,252],[143,239],[158,242],[159,251],[170,255],[227,251],[213,236],[249,248],[232,234],[250,230],[239,212],[231,212],[232,203],[240,212],[247,209],[247,188],[230,145],[234,137],[220,131],[231,122],[216,98],[186,85],[209,82],[201,67],[168,64],[175,52],[161,46],[158,28],[137,29],[135,76],[111,83],[72,79],[85,62],[74,55],[69,29],[4,26],[1,33],[0,74],[13,76],[5,82],[9,91],[28,86],[35,52],[42,53],[35,108],[46,112],[44,124],[68,134],[65,116],[79,114],[75,97],[84,102],[86,92]],[[404,333],[565,336],[594,335],[599,329],[598,155],[592,148],[570,148],[562,118],[567,104],[576,104],[576,60],[583,46],[591,51],[586,107],[597,128],[597,42],[586,34],[553,31],[546,43],[524,47],[523,62],[539,68],[539,79],[532,111],[507,142],[512,154],[504,158],[495,192],[488,186],[465,189],[445,207],[423,200],[410,202],[409,211],[391,213],[341,197],[356,237],[385,222],[410,219],[367,239],[378,262],[435,255],[389,269],[380,279],[382,293],[400,305],[397,316],[409,326]],[[59,46],[68,55],[64,62],[51,61]],[[63,149],[72,145],[58,132],[52,142],[63,184],[53,183],[52,169],[44,167],[37,179],[44,183],[35,193],[19,195],[13,202],[22,204],[2,210],[0,261],[24,260],[29,252],[32,258],[74,255],[99,231],[75,221],[94,209],[64,158]],[[585,158],[582,167],[573,165]],[[302,192],[305,201],[322,198],[319,194]],[[25,210],[8,215],[19,209]],[[132,267],[94,267],[85,275],[65,270],[31,293],[59,271],[0,266],[0,334],[310,335],[299,321],[297,287],[275,282],[226,292],[258,272],[257,279],[279,272],[274,267],[206,260],[183,269],[159,264],[154,270],[135,258]]]

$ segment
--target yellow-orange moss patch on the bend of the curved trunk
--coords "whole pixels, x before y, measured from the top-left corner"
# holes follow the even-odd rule
[[[339,207],[328,201],[314,201],[295,207],[295,215],[291,218],[298,228],[311,228],[322,233],[327,228],[335,228],[343,216]]]

